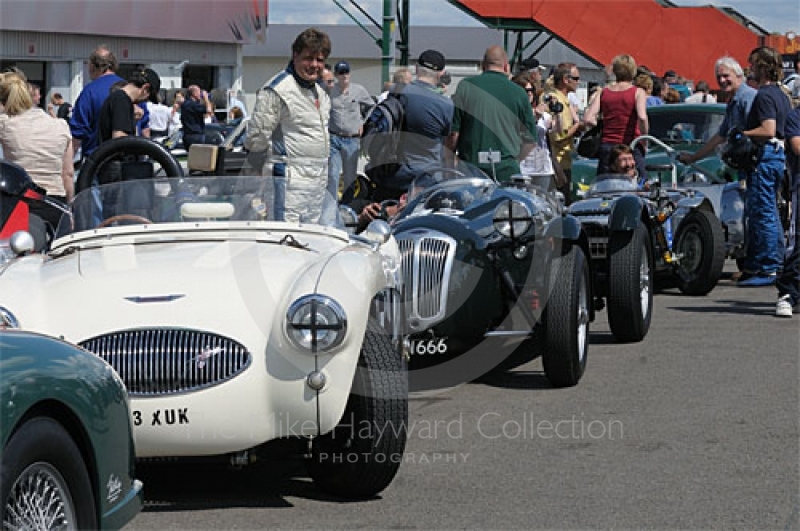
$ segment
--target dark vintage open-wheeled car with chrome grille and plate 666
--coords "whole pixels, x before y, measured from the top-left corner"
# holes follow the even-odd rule
[[[541,347],[552,385],[586,367],[594,319],[589,247],[551,178],[503,186],[475,171],[421,191],[393,220],[403,257],[415,389],[474,380],[517,347]]]

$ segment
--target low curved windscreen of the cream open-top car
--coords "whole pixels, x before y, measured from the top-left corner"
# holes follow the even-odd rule
[[[280,195],[279,195],[280,197]],[[107,226],[199,221],[279,221],[268,177],[138,179],[92,187],[75,196],[58,235]]]

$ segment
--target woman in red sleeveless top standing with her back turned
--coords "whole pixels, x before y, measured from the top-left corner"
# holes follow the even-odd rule
[[[597,175],[610,171],[609,154],[617,144],[630,144],[634,138],[646,135],[650,129],[647,121],[647,93],[633,84],[636,77],[636,61],[627,54],[618,55],[611,63],[616,82],[602,89],[586,110],[585,120],[589,126],[597,123],[598,114],[603,117],[603,136],[597,161]],[[634,152],[639,175],[646,176],[644,149]]]

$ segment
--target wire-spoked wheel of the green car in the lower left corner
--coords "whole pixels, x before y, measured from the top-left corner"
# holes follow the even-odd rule
[[[49,418],[27,421],[3,451],[3,529],[97,529],[97,510],[80,450]]]

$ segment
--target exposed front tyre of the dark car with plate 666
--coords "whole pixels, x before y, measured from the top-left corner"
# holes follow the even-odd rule
[[[586,370],[589,350],[589,264],[583,250],[570,245],[550,271],[542,365],[553,387],[572,387]]]

